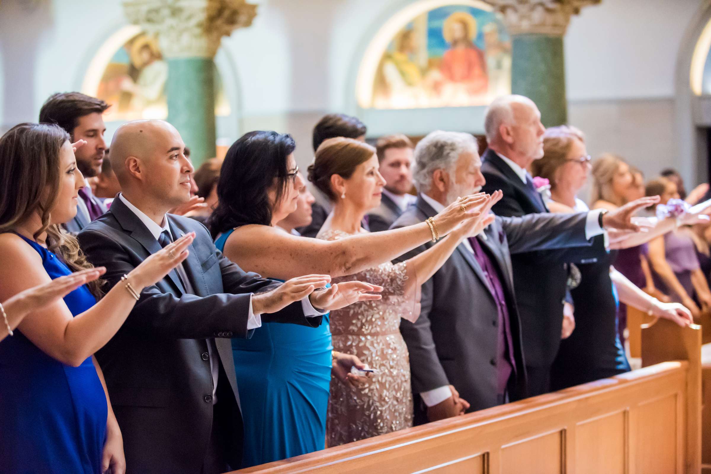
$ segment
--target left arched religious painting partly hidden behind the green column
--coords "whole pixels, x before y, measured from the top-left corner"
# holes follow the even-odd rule
[[[96,97],[112,104],[105,121],[168,117],[168,63],[158,43],[145,33],[127,40],[106,66]],[[230,104],[215,67],[215,115],[228,116]]]

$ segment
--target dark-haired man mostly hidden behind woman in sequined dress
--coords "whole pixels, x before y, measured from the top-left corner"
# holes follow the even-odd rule
[[[346,137],[365,141],[365,133],[367,131],[368,128],[365,127],[365,123],[358,120],[358,118],[346,114],[324,115],[314,127],[312,142],[314,145],[314,153],[319,149],[319,145],[324,143],[325,140],[328,140],[328,138]],[[301,236],[304,237],[316,237],[321,226],[324,225],[328,213],[331,211],[331,203],[328,202],[328,199],[324,197],[321,192],[314,189],[314,196],[316,196],[316,202],[311,204],[311,224],[296,229],[296,231],[301,233]],[[368,227],[366,226],[365,228]]]

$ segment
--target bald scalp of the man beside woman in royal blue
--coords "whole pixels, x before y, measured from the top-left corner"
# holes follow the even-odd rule
[[[170,123],[164,120],[131,121],[124,123],[114,133],[109,160],[116,177],[125,187],[129,179],[126,160],[133,157],[148,164],[151,159],[159,158],[178,146],[180,151],[185,148],[180,133]]]

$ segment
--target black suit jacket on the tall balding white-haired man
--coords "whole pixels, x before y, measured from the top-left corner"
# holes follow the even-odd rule
[[[493,150],[486,150],[482,159],[481,172],[486,178],[482,190],[503,191],[503,198],[493,206],[496,215],[511,217],[548,212],[540,194],[527,187]],[[604,251],[602,239],[595,239],[594,246],[585,251],[542,250],[513,255],[513,281],[528,365],[548,367],[558,352],[567,294],[565,263],[594,262]]]

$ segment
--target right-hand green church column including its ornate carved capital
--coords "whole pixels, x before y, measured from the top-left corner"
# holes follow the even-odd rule
[[[543,125],[567,122],[563,36],[570,17],[601,0],[486,0],[513,38],[511,92],[532,99]]]

